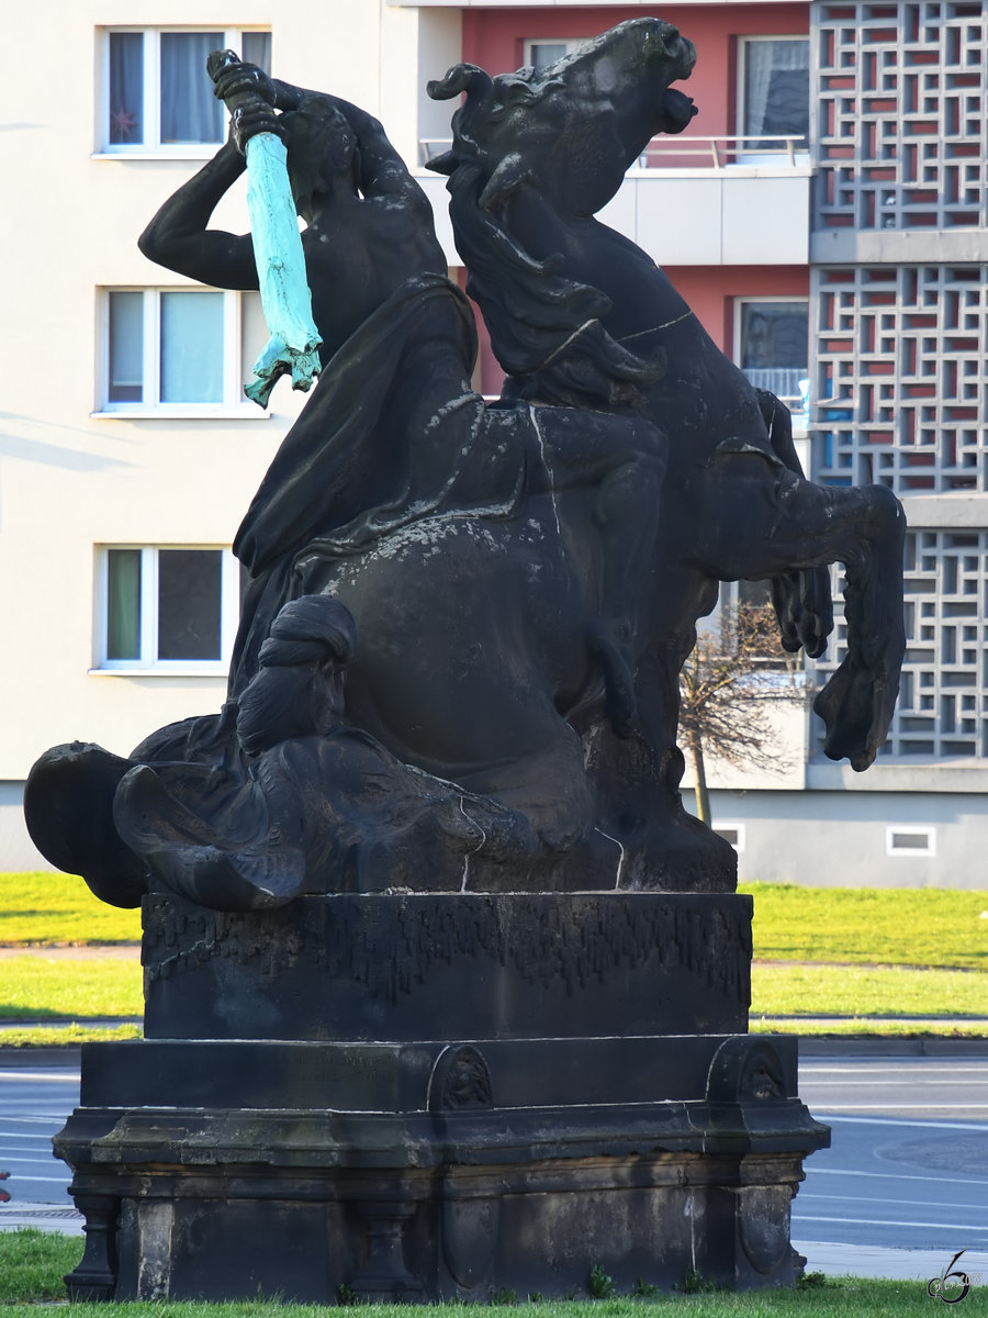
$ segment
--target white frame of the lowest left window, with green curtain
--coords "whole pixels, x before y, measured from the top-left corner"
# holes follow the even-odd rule
[[[109,659],[109,551],[136,550],[141,554],[141,656],[138,659]],[[158,551],[206,550],[220,558],[220,658],[219,659],[158,659]],[[119,544],[96,546],[96,645],[94,675],[151,676],[151,677],[227,677],[233,642],[240,626],[240,561],[228,544]]]

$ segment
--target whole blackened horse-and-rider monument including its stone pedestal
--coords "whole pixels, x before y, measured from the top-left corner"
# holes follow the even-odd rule
[[[817,708],[865,768],[904,526],[885,489],[806,481],[786,410],[594,219],[689,123],[693,59],[639,18],[541,72],[431,84],[466,94],[435,166],[507,373],[490,406],[381,125],[213,61],[231,140],[142,249],[257,287],[250,237],[208,221],[245,142],[281,136],[321,376],[237,535],[223,710],[126,759],[55,747],[28,784],[41,850],[144,907],[145,1039],[86,1052],[55,1140],[78,1298],[798,1276],[789,1202],[827,1132],[794,1040],[746,1033],[751,899],[680,801],[677,675],[738,577],[819,654],[843,561]]]

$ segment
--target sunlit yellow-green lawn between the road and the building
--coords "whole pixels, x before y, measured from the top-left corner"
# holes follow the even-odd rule
[[[752,1025],[801,1033],[821,1016],[888,1021],[988,1017],[988,892],[939,888],[802,888],[747,884],[755,898]],[[0,946],[32,948],[0,961],[0,1019],[71,1023],[92,1016],[140,1016],[136,960],[46,954],[54,944],[136,942],[140,912],[108,907],[80,879],[62,874],[0,875]],[[785,1017],[797,1017],[786,1020]],[[927,1031],[929,1032],[929,1031]],[[133,1028],[124,1032],[133,1035]],[[4,1032],[30,1044],[30,1031]],[[66,1041],[70,1036],[65,1035]]]

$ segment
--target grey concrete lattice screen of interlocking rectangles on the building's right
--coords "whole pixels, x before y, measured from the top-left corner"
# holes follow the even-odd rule
[[[988,14],[811,13],[813,229],[855,231],[865,254],[810,273],[813,474],[908,501],[909,650],[883,754],[988,759],[988,264],[956,258],[985,252]],[[844,637],[838,617],[818,683]]]

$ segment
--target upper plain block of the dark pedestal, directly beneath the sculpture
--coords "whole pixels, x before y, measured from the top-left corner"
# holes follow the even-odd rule
[[[742,1033],[751,898],[339,894],[232,915],[144,903],[149,1039]]]

